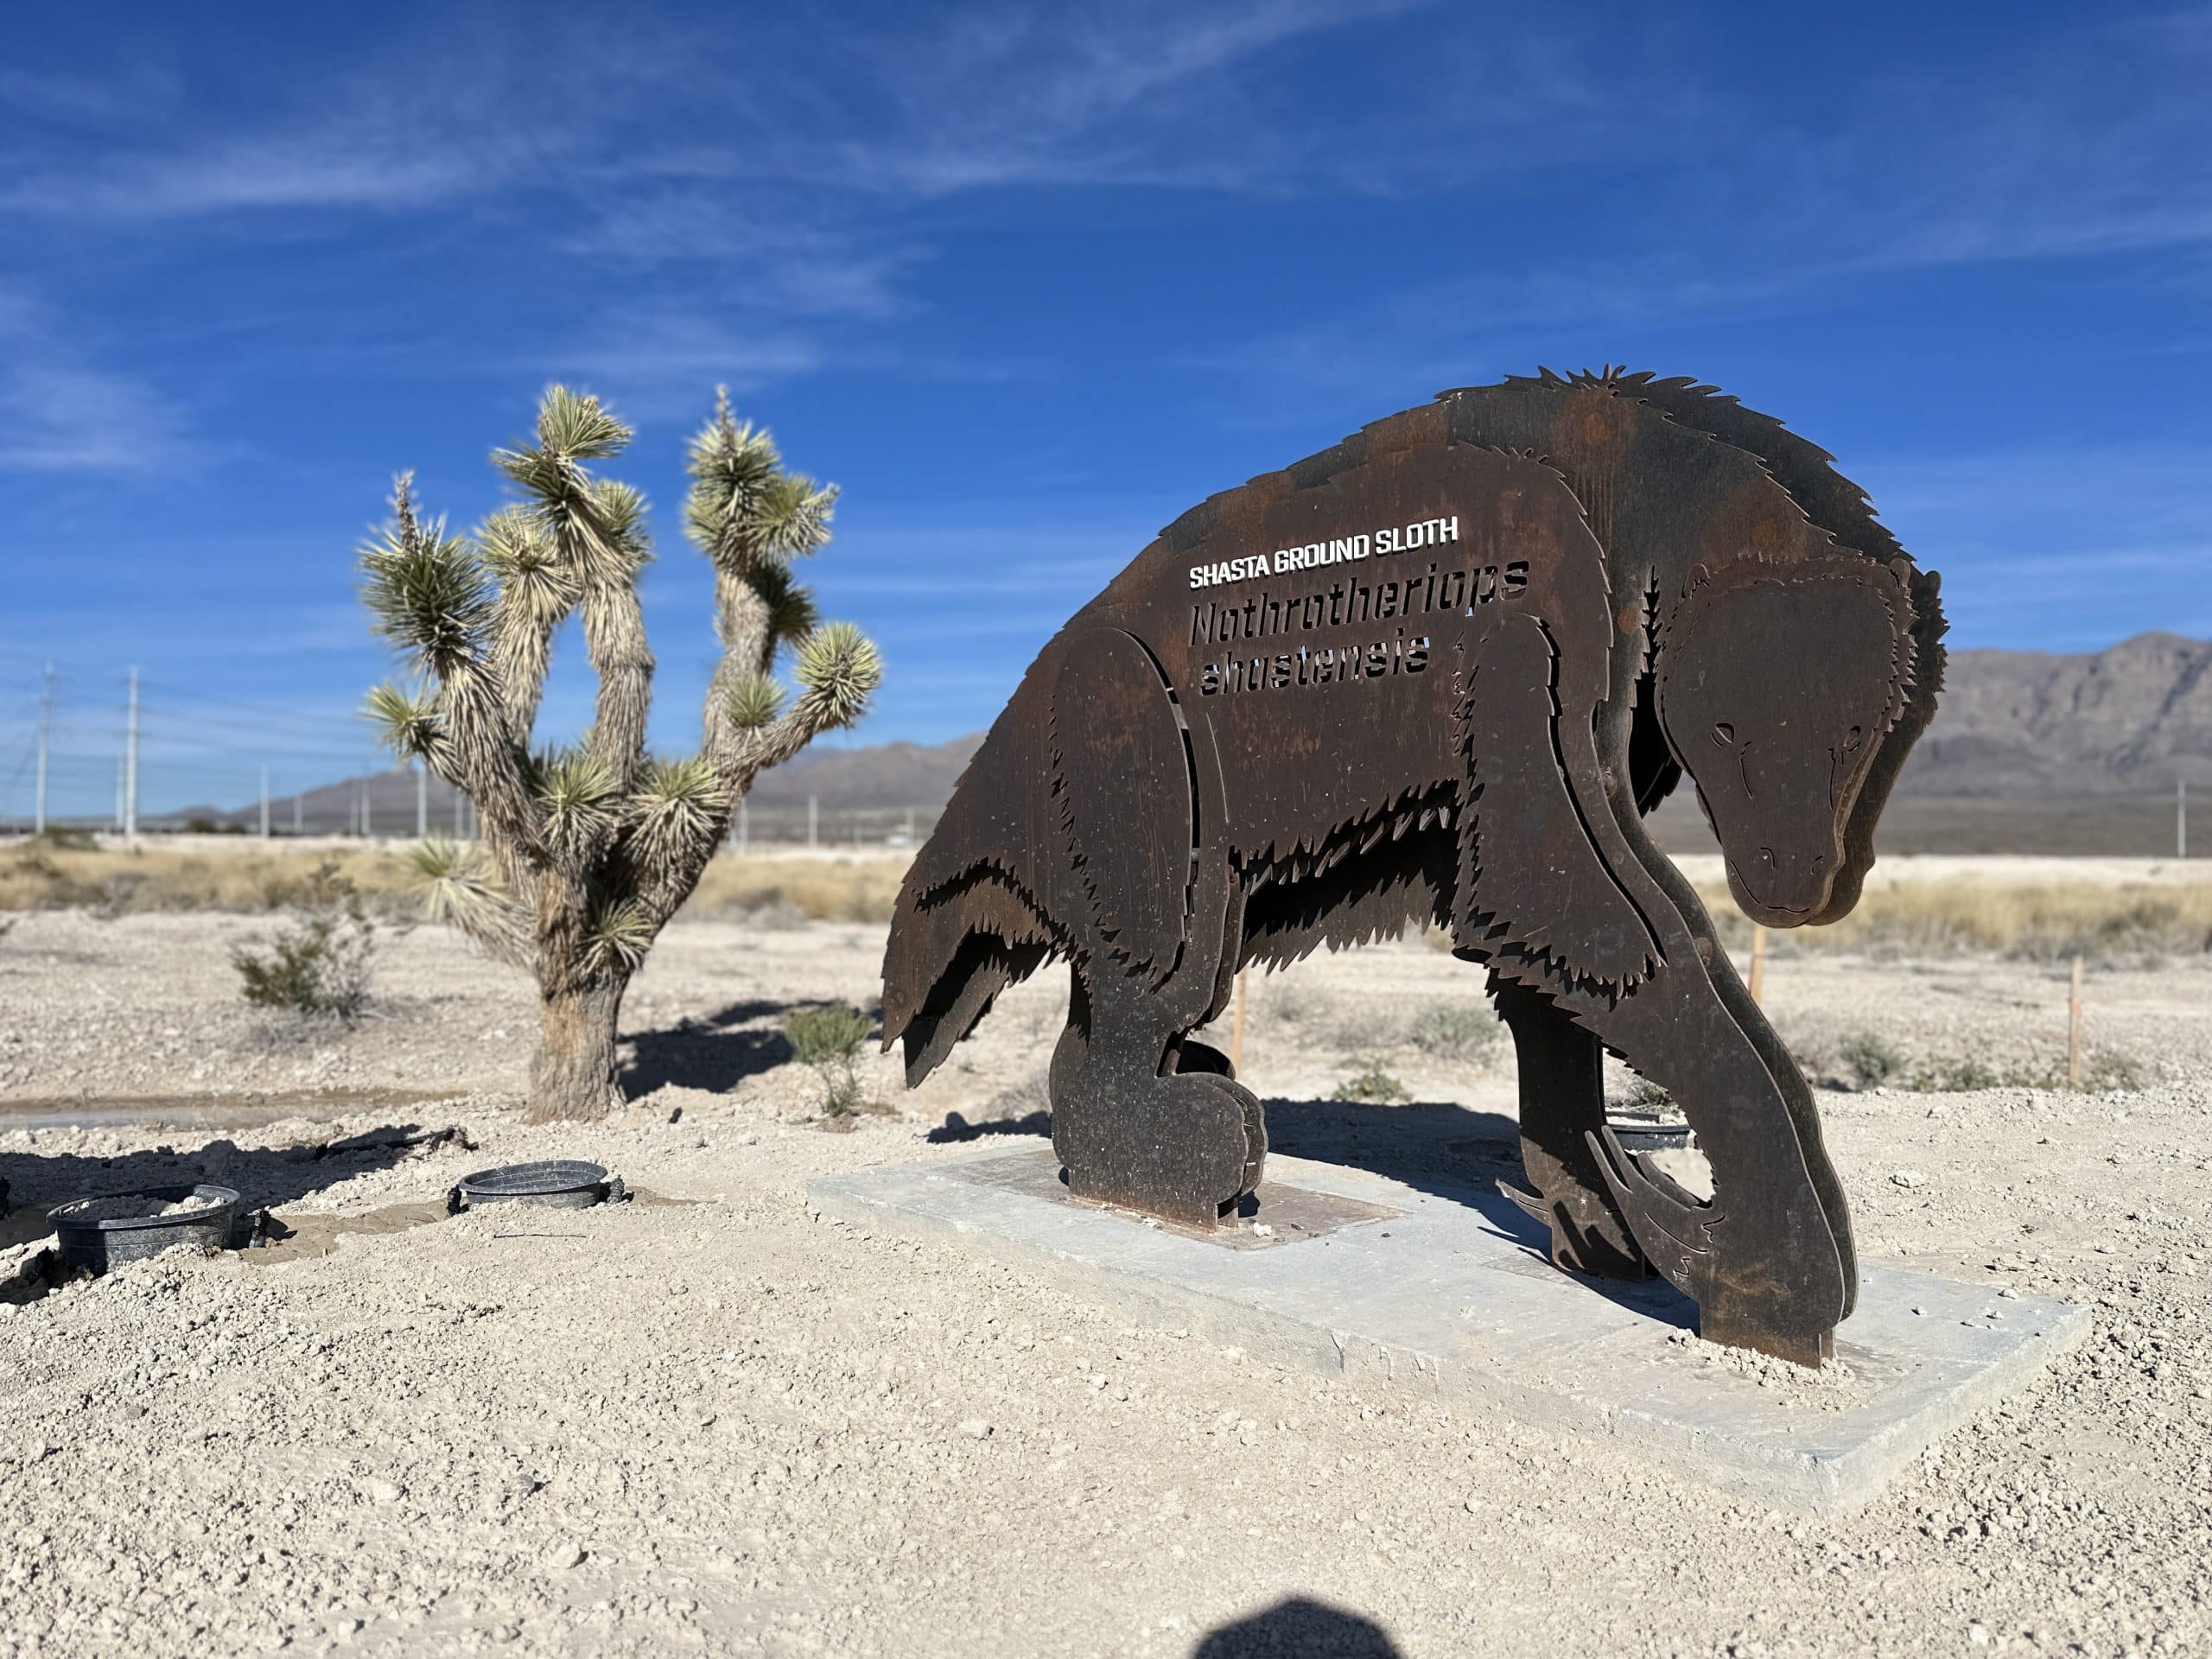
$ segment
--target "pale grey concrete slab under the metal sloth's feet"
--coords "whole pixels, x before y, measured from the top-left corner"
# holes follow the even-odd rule
[[[1836,1363],[1814,1374],[1692,1340],[1697,1310],[1663,1281],[1559,1272],[1537,1225],[1495,1192],[1274,1155],[1267,1172],[1256,1203],[1210,1234],[1068,1199],[1042,1146],[838,1175],[810,1192],[843,1221],[953,1241],[1141,1321],[1610,1436],[1801,1513],[1869,1502],[2090,1327],[2068,1303],[1869,1265]]]

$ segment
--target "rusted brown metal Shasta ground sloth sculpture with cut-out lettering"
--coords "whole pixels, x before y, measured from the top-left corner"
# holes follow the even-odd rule
[[[1816,1365],[1843,1188],[1644,814],[1688,772],[1752,918],[1843,916],[1942,628],[1829,456],[1710,387],[1449,392],[1192,509],[1053,637],[900,891],[885,1046],[920,1082],[1068,960],[1071,1190],[1212,1225],[1267,1133],[1186,1033],[1245,962],[1433,920],[1513,1031],[1553,1261],[1657,1270],[1712,1340]],[[1688,1113],[1710,1203],[1610,1137],[1601,1048]]]

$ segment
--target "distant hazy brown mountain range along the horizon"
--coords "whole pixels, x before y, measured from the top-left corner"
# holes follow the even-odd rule
[[[931,745],[810,750],[754,783],[754,834],[801,838],[810,796],[823,841],[880,838],[902,827],[907,812],[927,834],[980,741],[973,732]],[[1885,816],[1885,843],[1924,852],[2168,852],[2170,810],[2159,796],[2174,779],[2203,787],[2212,849],[2212,641],[2143,633],[2073,657],[1953,650],[1936,723]],[[407,772],[310,790],[301,823],[349,830],[363,796],[372,830],[414,834],[416,781]],[[453,792],[431,779],[427,803],[431,830],[451,830]],[[184,818],[257,827],[259,803],[186,807],[164,823]],[[292,827],[290,799],[272,818],[279,832]],[[1710,845],[1688,790],[1657,827],[1674,849]]]

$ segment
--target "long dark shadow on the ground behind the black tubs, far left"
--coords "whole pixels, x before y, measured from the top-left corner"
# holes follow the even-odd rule
[[[0,1152],[0,1181],[7,1183],[0,1245],[42,1239],[51,1232],[46,1210],[58,1203],[161,1186],[228,1186],[239,1192],[248,1210],[281,1210],[356,1175],[420,1159],[422,1188],[429,1197],[471,1168],[449,1157],[467,1150],[465,1137],[451,1135],[440,1141],[436,1137],[442,1128],[442,1124],[380,1124],[358,1135],[301,1146],[239,1146],[228,1137],[190,1146],[190,1135],[179,1130],[184,1144],[173,1141],[117,1157]]]

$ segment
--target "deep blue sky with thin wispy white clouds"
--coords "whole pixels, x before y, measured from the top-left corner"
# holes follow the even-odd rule
[[[1962,646],[2212,635],[2212,9],[42,7],[0,66],[0,812],[361,770],[352,546],[582,383],[659,504],[730,383],[845,487],[856,741],[984,726],[1164,522],[1447,385],[1783,416]],[[571,653],[573,657],[573,653]],[[568,672],[549,721],[580,726]]]

